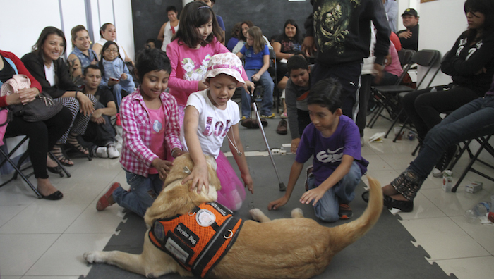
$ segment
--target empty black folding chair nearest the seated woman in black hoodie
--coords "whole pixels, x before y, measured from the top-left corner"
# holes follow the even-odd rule
[[[426,73],[424,73],[422,78],[420,80],[418,80],[416,89],[411,89],[410,87],[407,87],[404,85],[392,85],[392,86],[387,86],[387,87],[375,88],[379,92],[382,92],[382,94],[385,95],[385,97],[394,100],[394,102],[396,104],[398,104],[399,107],[401,108],[399,110],[399,113],[397,113],[397,116],[394,118],[394,121],[391,124],[390,129],[387,130],[385,138],[387,137],[387,135],[390,134],[392,128],[394,128],[394,125],[398,122],[400,116],[402,116],[402,114],[404,113],[404,109],[401,106],[401,100],[399,99],[399,94],[406,94],[406,93],[418,90],[418,88],[420,88],[420,86],[422,85],[423,81],[428,78],[428,75],[430,73],[430,69],[436,63],[436,61],[438,61],[439,57],[440,57],[439,51],[430,50],[430,49],[423,49],[421,51],[418,51],[416,54],[414,54],[414,57],[411,59],[412,63],[415,63],[419,66],[428,67]],[[430,78],[428,85],[426,87],[430,87],[430,84],[433,82],[435,75],[437,75],[438,71],[439,71],[439,69],[435,71],[433,77]],[[396,142],[399,134],[405,128],[407,121],[408,121],[408,117],[406,118],[406,120],[404,120],[404,125],[402,125],[402,128],[400,128],[398,134],[394,137],[393,142]]]

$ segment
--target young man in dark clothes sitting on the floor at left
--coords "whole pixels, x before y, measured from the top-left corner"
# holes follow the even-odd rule
[[[90,143],[88,149],[92,156],[118,158],[120,153],[115,147],[115,129],[110,123],[110,117],[116,115],[113,93],[109,89],[100,88],[101,70],[96,65],[88,65],[84,69],[83,79],[84,94],[93,95],[97,101],[83,139]]]

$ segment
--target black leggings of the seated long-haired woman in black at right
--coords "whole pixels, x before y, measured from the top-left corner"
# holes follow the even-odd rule
[[[436,88],[438,91],[430,92],[431,88]],[[444,87],[431,88],[406,94],[402,100],[406,115],[414,123],[418,137],[422,140],[426,138],[430,129],[441,122],[440,113],[454,111],[460,106],[482,97],[485,93],[478,94],[469,88],[460,86],[445,90],[443,90]]]

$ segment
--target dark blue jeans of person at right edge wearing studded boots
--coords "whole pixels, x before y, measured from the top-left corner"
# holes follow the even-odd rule
[[[474,99],[453,111],[435,125],[423,140],[423,149],[410,163],[409,170],[426,178],[447,147],[494,133],[494,97]]]

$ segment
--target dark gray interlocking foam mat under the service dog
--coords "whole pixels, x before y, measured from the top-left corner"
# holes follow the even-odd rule
[[[252,134],[252,137],[246,137],[246,140],[258,144],[254,136]],[[260,138],[260,142],[264,144],[262,138]],[[233,166],[235,164],[233,159],[229,158],[229,160]],[[278,190],[278,180],[269,157],[248,157],[247,161],[255,182],[255,190],[254,194],[247,194],[246,201],[242,208],[236,212],[236,216],[250,219],[248,209],[258,207],[270,218],[289,218],[291,209],[300,207],[304,216],[315,219],[312,206],[299,203],[299,197],[304,191],[303,175],[299,178],[290,201],[277,211],[267,211],[267,204],[271,200],[281,197],[284,192]],[[275,156],[277,169],[285,182],[288,180],[293,161],[293,154]],[[367,206],[361,199],[361,193],[364,191],[363,186],[361,182],[356,190],[356,198],[350,204],[354,210],[354,218],[361,216]],[[347,221],[319,223],[335,226],[344,222]],[[133,254],[142,252],[143,237],[146,230],[142,218],[133,213],[127,213],[126,221],[122,222],[116,230],[120,231],[119,235],[111,237],[104,248],[105,251],[120,250]],[[283,235],[280,234],[279,237],[283,237]],[[446,275],[436,263],[428,263],[426,260],[428,254],[422,247],[415,247],[411,241],[414,241],[414,238],[399,223],[398,217],[384,209],[375,227],[360,240],[337,254],[325,272],[315,278],[456,278],[454,275]],[[80,278],[144,278],[144,276],[123,271],[115,266],[95,264],[86,277],[80,276]],[[160,278],[178,279],[181,277],[175,273]]]

